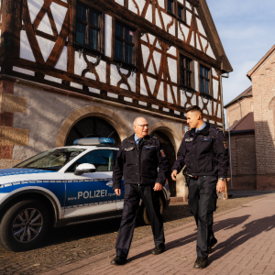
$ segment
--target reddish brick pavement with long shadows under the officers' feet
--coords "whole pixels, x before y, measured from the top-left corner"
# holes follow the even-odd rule
[[[216,215],[218,244],[203,270],[193,268],[196,258],[195,223],[166,231],[166,251],[151,255],[149,238],[133,247],[125,266],[112,266],[114,249],[43,275],[90,274],[275,274],[275,194]],[[144,242],[147,241],[147,242]]]

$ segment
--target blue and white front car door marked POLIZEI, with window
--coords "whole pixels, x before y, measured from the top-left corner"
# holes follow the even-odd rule
[[[96,172],[75,175],[75,168],[82,163],[95,165]],[[113,166],[114,153],[110,149],[90,151],[70,166],[65,173],[65,218],[108,213],[117,209],[112,182]]]

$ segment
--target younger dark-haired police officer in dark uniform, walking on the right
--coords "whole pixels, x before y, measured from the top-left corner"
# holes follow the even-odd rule
[[[197,259],[194,268],[207,266],[211,247],[217,243],[212,230],[217,195],[225,190],[228,170],[228,150],[223,132],[202,120],[198,106],[187,109],[188,131],[180,145],[171,177],[186,165],[189,208],[194,215],[197,233]]]

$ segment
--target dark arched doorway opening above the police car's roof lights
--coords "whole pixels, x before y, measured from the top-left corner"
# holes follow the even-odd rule
[[[119,146],[121,143],[115,128],[106,120],[94,116],[83,118],[73,126],[68,134],[66,146],[83,137],[111,137],[116,145]]]

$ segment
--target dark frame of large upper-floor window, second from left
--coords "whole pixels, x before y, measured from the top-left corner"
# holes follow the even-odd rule
[[[123,38],[116,36],[116,24],[119,24],[123,27]],[[133,39],[132,42],[129,42],[125,38],[125,28],[127,28],[129,31],[133,32]],[[123,50],[122,50],[122,57],[123,59],[118,59],[116,57],[116,40],[119,40],[123,43]],[[137,64],[137,29],[132,27],[131,25],[124,23],[122,20],[118,20],[116,18],[113,18],[113,60],[119,64],[124,65],[124,67],[135,67]],[[126,62],[126,45],[132,46],[132,63]]]

